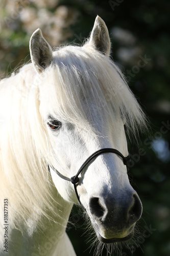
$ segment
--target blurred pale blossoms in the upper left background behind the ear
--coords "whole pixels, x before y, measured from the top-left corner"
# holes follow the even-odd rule
[[[1,0],[0,1],[0,77],[3,69],[17,61],[12,51],[18,51],[18,61],[28,54],[21,48],[29,46],[32,33],[40,28],[52,47],[58,47],[74,33],[69,29],[78,12],[59,5],[57,0]],[[12,51],[11,51],[12,50]],[[9,62],[9,64],[8,64]]]

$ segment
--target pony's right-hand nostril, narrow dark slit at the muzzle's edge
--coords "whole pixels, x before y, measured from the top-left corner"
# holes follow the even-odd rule
[[[142,214],[142,204],[137,194],[133,195],[133,205],[131,206],[129,210],[129,218],[131,221],[138,221]]]

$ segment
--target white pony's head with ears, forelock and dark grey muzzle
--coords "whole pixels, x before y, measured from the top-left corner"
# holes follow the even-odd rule
[[[109,57],[108,29],[99,16],[83,46],[52,51],[38,29],[31,37],[30,52],[47,141],[47,148],[41,148],[44,161],[51,166],[61,197],[78,203],[74,186],[55,170],[69,179],[101,148],[115,148],[128,156],[125,125],[135,134],[137,125],[144,123],[144,115]],[[133,237],[142,204],[121,157],[111,153],[96,157],[84,167],[76,187],[101,242]]]

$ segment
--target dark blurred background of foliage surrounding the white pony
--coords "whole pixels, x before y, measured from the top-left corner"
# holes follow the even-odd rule
[[[52,47],[83,44],[96,15],[112,41],[112,58],[149,116],[150,132],[129,143],[130,179],[143,203],[133,255],[170,255],[170,2],[168,0],[1,0],[0,78],[30,60],[29,40],[38,27]],[[93,255],[78,207],[67,233],[78,256]],[[88,231],[87,231],[88,233]],[[83,236],[82,236],[83,235]],[[103,256],[106,250],[103,250]],[[110,254],[109,254],[110,255]],[[116,256],[116,252],[114,256]],[[122,256],[132,255],[123,248]]]

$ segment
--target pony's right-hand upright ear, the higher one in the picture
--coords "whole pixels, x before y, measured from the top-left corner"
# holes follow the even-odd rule
[[[87,44],[91,44],[96,50],[105,55],[110,54],[110,37],[104,20],[96,16],[90,39]]]

